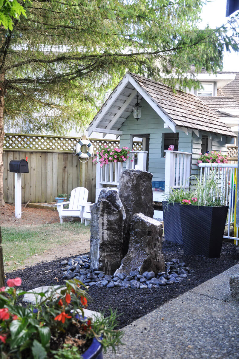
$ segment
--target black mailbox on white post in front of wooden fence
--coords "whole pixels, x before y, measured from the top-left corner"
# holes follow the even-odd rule
[[[9,172],[15,173],[15,217],[22,217],[22,173],[28,173],[28,162],[24,159],[9,162]]]

